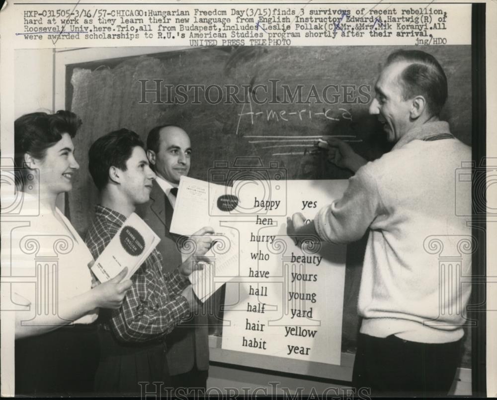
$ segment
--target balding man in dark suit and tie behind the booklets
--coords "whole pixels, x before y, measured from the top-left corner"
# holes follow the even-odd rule
[[[188,134],[172,125],[152,129],[147,137],[147,156],[157,174],[150,201],[142,217],[161,237],[157,249],[164,259],[167,273],[182,263],[176,243],[179,236],[169,232],[179,178],[190,169],[191,145]],[[213,233],[203,228],[194,236]],[[185,262],[191,262],[185,261]],[[199,304],[192,320],[178,326],[166,338],[167,363],[174,388],[206,388],[209,369],[207,314]]]

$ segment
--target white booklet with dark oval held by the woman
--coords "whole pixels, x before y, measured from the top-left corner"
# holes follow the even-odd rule
[[[103,283],[128,267],[126,279],[129,279],[160,241],[145,221],[132,213],[95,260],[91,270]]]

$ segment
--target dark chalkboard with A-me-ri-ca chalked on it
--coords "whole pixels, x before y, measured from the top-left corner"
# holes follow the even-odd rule
[[[236,168],[240,157],[252,157],[260,169],[277,166],[287,179],[347,179],[348,171],[314,152],[320,135],[337,135],[366,159],[390,149],[376,116],[368,114],[374,83],[387,56],[399,47],[215,47],[71,65],[68,67],[70,109],[83,120],[74,139],[81,172],[69,194],[71,220],[84,235],[93,215],[97,191],[87,171],[86,150],[99,136],[128,128],[145,140],[151,128],[175,124],[189,133],[193,155],[190,176],[208,180],[216,162]],[[471,47],[416,47],[431,53],[444,68],[449,98],[441,119],[452,133],[471,145]],[[160,98],[147,93],[161,85],[211,85],[210,104],[203,91],[185,104],[174,104],[164,87]],[[70,83],[69,83],[70,82]],[[144,83],[145,82],[145,83]],[[277,82],[276,91],[272,91]],[[218,100],[216,87],[248,91],[246,104]],[[260,86],[268,87],[266,95]],[[299,86],[300,85],[300,86]],[[282,86],[287,87],[287,92]],[[302,99],[291,95],[301,87]],[[327,88],[328,100],[323,99]],[[172,89],[171,89],[172,90]],[[186,91],[186,90],[184,90]],[[314,97],[309,94],[317,93]],[[169,92],[170,94],[171,92]],[[286,95],[286,97],[285,97]],[[224,96],[224,94],[223,94]],[[264,98],[269,101],[256,104]],[[310,98],[310,104],[305,100]],[[178,98],[181,102],[183,98]],[[213,100],[213,101],[212,101]],[[233,100],[233,98],[232,98]],[[286,101],[285,101],[286,100]],[[290,101],[291,100],[291,101]],[[325,100],[320,103],[320,100]],[[237,161],[238,160],[238,161]],[[244,160],[247,160],[246,158]],[[366,235],[367,236],[367,235]],[[342,351],[354,351],[359,326],[356,314],[365,238],[347,247]],[[466,340],[463,365],[470,365]]]

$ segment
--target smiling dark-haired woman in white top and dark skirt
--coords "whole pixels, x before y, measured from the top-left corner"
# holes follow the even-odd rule
[[[81,120],[70,111],[32,113],[14,123],[17,196],[24,227],[11,231],[15,318],[15,394],[88,394],[99,359],[98,308],[119,308],[130,280],[92,283],[83,239],[56,207],[79,165],[71,140]],[[3,237],[3,235],[2,235]],[[33,279],[35,277],[35,279]],[[36,282],[34,282],[35,280]]]

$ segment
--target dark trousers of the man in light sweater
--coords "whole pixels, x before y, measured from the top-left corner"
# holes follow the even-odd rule
[[[462,339],[419,343],[397,336],[357,339],[352,385],[371,396],[447,396],[460,362]]]

